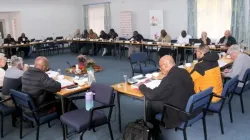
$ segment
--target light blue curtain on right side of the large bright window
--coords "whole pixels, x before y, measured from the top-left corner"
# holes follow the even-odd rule
[[[245,0],[232,0],[231,32],[236,41],[246,38]]]

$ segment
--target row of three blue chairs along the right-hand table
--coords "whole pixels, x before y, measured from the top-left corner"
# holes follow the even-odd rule
[[[248,84],[250,81],[250,69],[248,69],[243,77],[243,80],[238,80],[239,76],[235,76],[234,78],[228,80],[223,88],[221,96],[212,94],[213,88],[208,88],[207,90],[204,90],[198,94],[192,95],[188,102],[185,110],[181,110],[175,106],[172,106],[170,104],[164,105],[164,111],[163,113],[160,113],[156,116],[156,119],[161,122],[161,124],[164,126],[163,118],[165,111],[167,109],[175,110],[181,114],[184,114],[186,116],[186,121],[183,122],[177,130],[183,131],[184,140],[187,140],[187,134],[186,134],[186,128],[193,125],[199,120],[202,120],[203,122],[203,131],[204,131],[204,137],[205,140],[207,140],[207,131],[206,131],[206,113],[212,112],[216,113],[219,116],[220,121],[220,128],[221,128],[221,134],[224,134],[224,127],[223,127],[223,119],[222,119],[222,109],[226,102],[229,106],[229,116],[231,123],[233,123],[233,115],[232,115],[232,99],[235,95],[238,95],[240,97],[241,101],[241,109],[242,113],[244,113],[244,104],[243,104],[243,93],[248,89]],[[239,86],[239,83],[242,83],[242,86]],[[219,102],[211,103],[212,97],[221,98]],[[200,111],[197,113],[197,111]]]

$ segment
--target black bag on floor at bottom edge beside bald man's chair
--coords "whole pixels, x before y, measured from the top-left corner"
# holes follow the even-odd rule
[[[123,140],[153,140],[153,136],[147,123],[140,119],[126,126]]]

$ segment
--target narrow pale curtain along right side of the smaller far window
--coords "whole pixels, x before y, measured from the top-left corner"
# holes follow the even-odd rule
[[[110,16],[110,3],[104,4],[104,30],[106,33],[109,32],[111,28],[111,16]]]

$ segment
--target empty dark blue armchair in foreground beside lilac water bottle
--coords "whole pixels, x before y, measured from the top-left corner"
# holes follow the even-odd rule
[[[90,91],[95,93],[94,101],[101,105],[98,107],[93,107],[90,111],[86,111],[85,108],[67,112],[61,116],[61,122],[63,124],[63,137],[66,139],[65,125],[73,128],[76,132],[81,133],[80,139],[82,140],[83,134],[87,130],[93,129],[95,132],[95,127],[108,124],[111,139],[113,140],[113,134],[110,125],[110,119],[112,114],[112,109],[115,106],[115,93],[112,87],[92,83]],[[85,99],[85,96],[72,97],[71,100]],[[109,108],[108,116],[105,115],[103,109]]]

